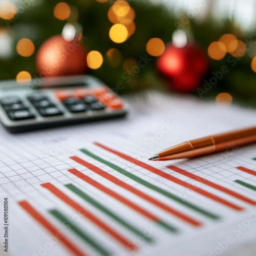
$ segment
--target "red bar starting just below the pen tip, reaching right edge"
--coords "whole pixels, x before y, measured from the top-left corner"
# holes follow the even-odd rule
[[[206,184],[206,185],[208,185],[210,187],[214,187],[214,188],[216,188],[216,189],[218,189],[218,190],[220,190],[220,191],[222,191],[222,192],[224,192],[224,193],[226,193],[226,194],[228,194],[228,195],[230,195],[232,197],[240,199],[240,200],[242,200],[242,201],[244,201],[246,203],[249,203],[249,204],[252,204],[252,205],[256,205],[255,201],[253,201],[253,200],[251,200],[251,199],[249,199],[247,197],[244,197],[244,196],[242,196],[242,195],[240,195],[240,194],[238,194],[238,193],[236,193],[236,192],[234,192],[234,191],[232,191],[232,190],[230,190],[230,189],[228,189],[226,187],[223,187],[223,186],[217,185],[217,184],[215,184],[215,183],[213,183],[211,181],[208,181],[208,180],[206,180],[206,179],[204,179],[204,178],[202,178],[200,176],[197,176],[195,174],[191,174],[191,173],[187,172],[186,170],[183,170],[183,169],[181,169],[179,167],[176,167],[176,166],[173,166],[173,165],[166,166],[166,167],[171,169],[171,170],[174,170],[174,172],[182,174],[182,175],[184,175],[184,176],[186,176],[186,177],[188,177],[190,179],[193,179],[193,180],[196,180],[198,182],[204,183],[204,184]]]

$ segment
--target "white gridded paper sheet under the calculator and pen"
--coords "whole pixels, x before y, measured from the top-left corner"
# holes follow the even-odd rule
[[[243,166],[256,173],[256,161],[253,160],[256,157],[255,145],[229,148],[224,153],[193,160],[150,162],[147,159],[164,148],[186,140],[255,125],[256,112],[238,106],[222,108],[214,103],[199,102],[189,97],[170,97],[156,93],[149,93],[143,98],[132,98],[130,104],[130,114],[125,119],[19,135],[8,134],[0,127],[0,255],[69,256],[75,255],[75,250],[84,255],[102,255],[109,252],[110,255],[120,256],[157,253],[174,256],[212,256],[234,255],[239,251],[243,255],[255,255],[253,243],[255,244],[256,240],[256,191],[234,182],[240,180],[256,186],[256,176],[237,168]],[[154,166],[169,175],[172,181],[137,163],[127,161],[94,142]],[[104,162],[84,154],[80,151],[81,148],[120,167],[119,172],[114,170],[113,166],[107,166]],[[114,177],[120,184],[130,185],[129,188],[102,177],[101,174],[95,173],[95,168],[90,169],[70,158],[73,156],[98,167],[104,175],[110,175],[108,178]],[[177,173],[166,167],[169,165],[234,191],[250,203],[224,193],[208,183],[198,182]],[[72,168],[93,179],[99,186],[103,185],[104,189],[108,188],[111,193],[115,192],[115,195],[121,196],[121,201],[126,199],[126,204],[106,194],[106,191],[100,190],[95,184],[89,184],[69,172]],[[171,194],[175,200],[128,177],[125,171],[132,174],[133,178],[139,177],[146,181],[145,184],[154,185],[154,188]],[[97,221],[92,222],[88,215],[83,216],[51,190],[41,186],[45,183],[50,183],[51,187],[68,196],[73,204],[78,203],[85,208],[90,216],[100,220],[107,228],[102,228]],[[121,221],[144,234],[144,237],[75,194],[65,186],[67,184],[86,193],[104,209],[110,210],[112,215],[118,216]],[[138,196],[139,192],[150,199]],[[8,223],[4,223],[5,198],[8,198]],[[133,207],[139,207],[139,210],[128,206],[127,200]],[[152,203],[152,200],[160,203],[161,207]],[[35,220],[32,212],[20,206],[19,202],[26,202],[39,212],[48,224],[65,236],[73,249],[67,246],[67,241],[59,239],[56,230],[55,233],[49,231],[45,225]],[[219,219],[212,219],[192,206],[188,207],[186,202]],[[230,205],[226,205],[226,202]],[[175,213],[163,207],[172,209]],[[81,238],[82,235],[79,236],[67,225],[67,222],[61,223],[50,210],[55,210],[55,214],[57,211],[67,218],[75,228],[79,228],[82,235],[86,233],[96,245],[86,242],[84,237]],[[161,225],[159,222],[165,224]],[[197,226],[195,223],[201,225]],[[4,251],[3,246],[6,224],[9,224],[8,253]],[[164,225],[176,228],[177,232]],[[108,231],[108,228],[111,230]],[[146,238],[154,242],[146,241]],[[128,241],[130,247],[121,242],[122,239]],[[131,244],[137,246],[136,251],[129,249]],[[97,246],[102,249],[101,252]]]

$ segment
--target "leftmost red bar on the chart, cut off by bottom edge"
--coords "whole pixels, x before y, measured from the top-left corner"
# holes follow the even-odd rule
[[[37,220],[42,226],[44,226],[50,233],[53,234],[63,245],[65,245],[74,255],[86,256],[87,254],[80,251],[70,240],[65,237],[65,234],[54,227],[44,216],[30,205],[27,201],[18,202],[24,210],[28,212],[35,220]]]

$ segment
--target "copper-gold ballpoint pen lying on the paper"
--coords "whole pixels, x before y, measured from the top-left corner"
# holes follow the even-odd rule
[[[157,153],[148,160],[193,158],[256,142],[256,127],[186,141]]]

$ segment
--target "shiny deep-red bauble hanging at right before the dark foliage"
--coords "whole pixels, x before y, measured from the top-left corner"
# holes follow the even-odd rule
[[[202,49],[189,42],[183,47],[170,43],[157,60],[158,71],[170,80],[177,92],[193,92],[208,69],[208,59]]]

